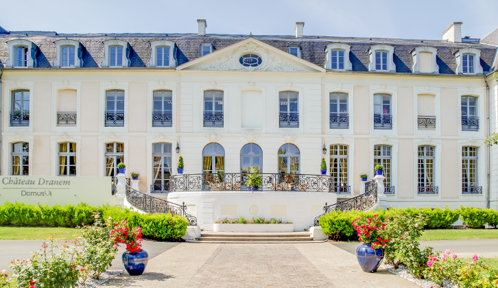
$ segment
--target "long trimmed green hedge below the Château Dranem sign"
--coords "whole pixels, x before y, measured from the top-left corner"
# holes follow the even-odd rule
[[[75,228],[91,225],[95,218],[93,211],[102,217],[112,217],[115,221],[124,219],[128,226],[142,228],[147,239],[178,240],[185,236],[187,219],[178,215],[141,214],[128,208],[116,206],[89,206],[87,204],[67,206],[42,206],[5,202],[0,206],[0,226],[49,226]]]

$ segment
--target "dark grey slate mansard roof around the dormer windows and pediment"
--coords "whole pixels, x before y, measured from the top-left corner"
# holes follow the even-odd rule
[[[150,42],[154,40],[170,40],[176,43],[178,64],[184,64],[200,57],[201,44],[213,44],[214,50],[223,49],[229,45],[238,43],[250,37],[249,35],[219,35],[208,34],[198,36],[196,34],[38,34],[26,36],[0,34],[0,62],[5,63],[8,58],[8,46],[6,41],[22,38],[32,41],[38,46],[36,57],[36,68],[51,68],[56,57],[56,40],[69,38],[77,40],[85,47],[83,53],[83,68],[101,67],[104,58],[104,40],[120,39],[130,43],[130,67],[148,67],[150,60]],[[254,36],[262,42],[287,52],[290,45],[301,47],[301,58],[320,67],[324,67],[324,48],[330,43],[346,43],[351,45],[350,60],[353,71],[368,71],[368,47],[377,44],[387,44],[394,47],[394,64],[397,73],[412,73],[411,51],[415,47],[429,45],[438,49],[436,62],[440,73],[455,74],[455,57],[453,53],[462,47],[474,47],[480,49],[481,65],[484,73],[490,71],[493,66],[497,47],[484,43],[449,43],[442,40],[403,40],[382,38],[340,38],[328,36],[305,36],[295,38],[294,36]]]

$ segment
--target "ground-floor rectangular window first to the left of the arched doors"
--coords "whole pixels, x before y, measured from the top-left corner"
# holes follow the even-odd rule
[[[152,144],[152,191],[169,191],[171,176],[171,143]]]

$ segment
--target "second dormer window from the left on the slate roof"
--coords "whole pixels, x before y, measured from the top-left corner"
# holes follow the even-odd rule
[[[83,66],[83,45],[71,39],[61,39],[56,42],[57,57],[54,59],[54,67],[75,68]]]

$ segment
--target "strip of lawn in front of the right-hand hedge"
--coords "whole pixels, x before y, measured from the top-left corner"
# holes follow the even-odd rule
[[[498,239],[498,229],[434,229],[424,230],[420,241],[458,239]]]

